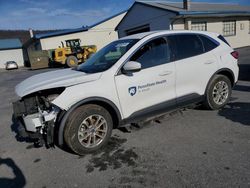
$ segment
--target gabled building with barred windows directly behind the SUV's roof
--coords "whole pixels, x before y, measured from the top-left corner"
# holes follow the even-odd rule
[[[119,37],[168,29],[216,32],[234,48],[249,46],[250,6],[189,0],[136,1],[116,28]]]

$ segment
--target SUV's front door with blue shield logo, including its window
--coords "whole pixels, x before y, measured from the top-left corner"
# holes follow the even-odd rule
[[[143,114],[164,102],[175,103],[175,65],[170,60],[165,38],[154,39],[141,47],[130,61],[141,63],[142,70],[115,77],[124,118]]]

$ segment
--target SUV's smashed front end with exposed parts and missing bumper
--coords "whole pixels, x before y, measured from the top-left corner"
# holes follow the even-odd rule
[[[61,109],[52,101],[65,88],[39,91],[23,97],[13,103],[14,119],[17,123],[18,136],[30,138],[36,146],[53,147],[54,131]]]

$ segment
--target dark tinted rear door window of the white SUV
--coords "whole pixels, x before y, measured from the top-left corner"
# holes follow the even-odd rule
[[[195,34],[178,34],[168,37],[175,41],[175,60],[181,60],[204,53],[202,41]]]

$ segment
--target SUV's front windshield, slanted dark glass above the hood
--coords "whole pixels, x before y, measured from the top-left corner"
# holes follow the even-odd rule
[[[76,70],[86,73],[97,73],[112,67],[138,40],[118,40],[108,44],[85,63],[79,65]]]

